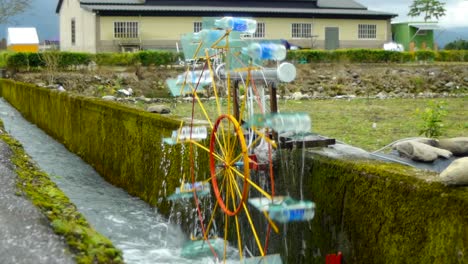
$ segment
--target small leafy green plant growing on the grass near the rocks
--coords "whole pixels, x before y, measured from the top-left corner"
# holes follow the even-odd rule
[[[425,135],[428,138],[437,138],[442,135],[444,124],[442,118],[447,115],[447,103],[445,101],[429,101],[424,111],[416,109],[416,113],[422,118],[422,128],[419,131],[420,135]]]

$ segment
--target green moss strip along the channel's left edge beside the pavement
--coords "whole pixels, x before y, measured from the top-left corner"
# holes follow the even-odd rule
[[[0,127],[4,130],[1,122]],[[44,213],[55,233],[65,238],[77,263],[123,263],[122,252],[88,224],[49,176],[31,162],[21,144],[6,133],[0,134],[0,139],[14,153],[17,195],[25,195]]]

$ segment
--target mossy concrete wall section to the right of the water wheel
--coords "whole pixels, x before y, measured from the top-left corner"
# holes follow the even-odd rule
[[[317,206],[310,223],[288,224],[274,243],[287,263],[325,263],[338,251],[345,263],[468,263],[468,187],[397,164],[302,161],[301,151],[282,159],[277,193],[300,198],[304,168],[303,197]]]

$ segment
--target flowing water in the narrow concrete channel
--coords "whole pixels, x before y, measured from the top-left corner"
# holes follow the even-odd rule
[[[90,165],[26,121],[3,98],[0,119],[8,133],[21,142],[90,224],[123,251],[125,262],[195,263],[180,257],[187,237],[177,225],[170,224],[142,200],[104,181]]]

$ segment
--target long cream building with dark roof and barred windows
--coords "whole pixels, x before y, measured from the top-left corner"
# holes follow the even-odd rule
[[[381,48],[395,14],[353,0],[59,0],[60,45],[67,51],[175,49],[203,17],[257,20],[253,38],[321,49]]]

